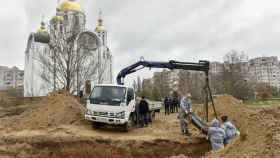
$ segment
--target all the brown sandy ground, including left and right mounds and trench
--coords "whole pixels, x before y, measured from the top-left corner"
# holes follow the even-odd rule
[[[218,114],[228,114],[241,136],[211,153],[198,130],[181,135],[177,115],[160,114],[152,125],[128,133],[92,129],[84,107],[67,94],[51,94],[39,103],[0,108],[0,158],[165,158],[277,157],[280,108],[249,108],[231,96],[217,98]],[[16,111],[16,112],[15,112]],[[199,108],[197,108],[197,113]],[[213,115],[212,115],[213,118]]]

